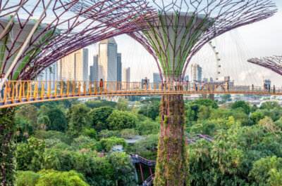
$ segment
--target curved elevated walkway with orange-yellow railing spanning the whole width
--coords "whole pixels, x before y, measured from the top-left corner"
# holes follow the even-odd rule
[[[233,86],[228,84],[162,84],[141,82],[104,81],[6,81],[0,98],[0,108],[73,98],[90,98],[115,95],[162,94],[249,94],[282,95],[281,88],[259,86]]]

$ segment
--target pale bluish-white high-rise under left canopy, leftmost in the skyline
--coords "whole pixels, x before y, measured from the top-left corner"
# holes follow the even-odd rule
[[[45,68],[37,77],[37,81],[57,81],[58,80],[58,64],[54,62],[49,67]],[[48,84],[44,84],[44,88],[48,88]],[[38,85],[38,88],[42,88],[42,84]],[[54,82],[51,83],[51,89],[55,88]]]

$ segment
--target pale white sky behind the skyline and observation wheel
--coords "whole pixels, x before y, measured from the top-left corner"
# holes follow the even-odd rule
[[[279,10],[273,17],[240,27],[212,41],[221,58],[220,76],[230,75],[235,84],[240,85],[262,86],[263,79],[271,79],[272,84],[282,86],[281,76],[247,62],[253,57],[282,55],[282,1],[274,1]],[[123,67],[130,67],[130,81],[140,81],[144,77],[152,79],[153,72],[158,72],[152,56],[129,36],[116,36],[115,39],[118,52],[122,53]],[[92,47],[90,53],[97,53],[97,46]],[[204,46],[192,63],[202,66],[202,77],[216,76],[216,58],[209,46]],[[186,74],[190,75],[189,67]]]

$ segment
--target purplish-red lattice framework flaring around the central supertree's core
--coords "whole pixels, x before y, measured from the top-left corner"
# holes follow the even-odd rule
[[[271,0],[152,0],[152,3],[152,6],[159,10],[160,15],[165,15],[166,19],[163,21],[168,25],[173,23],[173,20],[166,15],[168,12],[174,12],[176,14],[184,13],[186,15],[192,13],[195,16],[195,21],[192,23],[194,25],[191,26],[194,29],[190,29],[190,32],[188,32],[192,42],[184,46],[185,50],[189,50],[189,54],[187,58],[180,56],[180,58],[185,58],[183,59],[185,60],[184,67],[181,69],[181,80],[185,77],[185,72],[191,58],[200,51],[204,44],[207,44],[216,36],[224,34],[231,29],[269,18],[277,11],[276,5]],[[202,30],[199,37],[196,36],[195,39],[192,39],[195,30],[201,29],[202,27],[202,25],[199,24],[201,20],[198,19],[198,15],[205,16],[204,20],[206,20],[206,22],[202,22],[202,24],[209,24],[211,20],[213,23],[207,29]],[[152,54],[157,61],[159,71],[164,73],[164,70],[161,70],[161,66],[166,67],[168,65],[160,64],[155,49],[144,33],[131,32],[128,35],[142,44],[142,46]],[[166,44],[164,37],[158,36],[158,38],[159,43]],[[181,41],[185,40],[185,38],[178,39]],[[173,46],[173,41],[168,41],[167,45]],[[166,52],[165,49],[163,51],[164,53]],[[175,53],[179,50],[181,49],[175,48]]]

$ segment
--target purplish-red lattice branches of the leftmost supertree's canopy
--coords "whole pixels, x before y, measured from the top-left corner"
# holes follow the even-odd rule
[[[0,22],[1,50],[5,51],[0,59],[1,72],[8,69],[20,51],[22,46],[17,46],[17,42],[28,23],[38,19],[36,14],[42,13],[49,4],[42,19],[39,19],[39,26],[44,25],[43,29],[37,29],[36,34],[32,35],[16,66],[8,74],[11,79],[35,79],[44,68],[80,48],[112,36],[145,29],[145,22],[154,15],[144,0],[83,0],[87,8],[76,9],[75,13],[70,11],[71,8],[81,4],[82,0],[29,2],[20,0],[15,4],[8,0],[0,1],[0,19],[15,15],[14,20],[20,27],[17,34],[13,35],[15,22],[11,23],[6,32],[5,25]],[[102,19],[103,22],[97,21]]]

